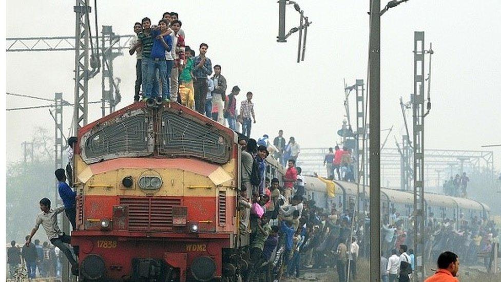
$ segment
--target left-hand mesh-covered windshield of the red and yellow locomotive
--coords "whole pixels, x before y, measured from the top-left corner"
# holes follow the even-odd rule
[[[119,157],[142,157],[153,153],[148,135],[148,118],[143,110],[127,112],[96,125],[82,137],[82,157],[93,163]]]

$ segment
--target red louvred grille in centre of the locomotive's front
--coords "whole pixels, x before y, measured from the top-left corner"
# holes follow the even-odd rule
[[[172,229],[172,206],[180,206],[181,199],[120,198],[120,204],[129,208],[130,231],[166,231]]]

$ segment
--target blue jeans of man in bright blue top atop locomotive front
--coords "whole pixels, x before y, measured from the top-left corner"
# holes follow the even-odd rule
[[[158,95],[158,90],[153,91],[155,87],[154,81],[156,80],[156,71],[158,69],[159,78],[162,82],[162,99],[170,99],[170,71],[172,70],[172,61],[165,61],[163,59],[143,59],[142,67],[146,61],[146,85],[143,97],[151,98]],[[158,89],[158,88],[157,88]],[[154,95],[157,93],[157,95]]]

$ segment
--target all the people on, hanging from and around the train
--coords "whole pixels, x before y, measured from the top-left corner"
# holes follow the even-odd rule
[[[207,55],[208,44],[197,44],[198,50],[187,45],[182,25],[176,12],[165,12],[158,22],[144,17],[141,22],[134,23],[137,37],[131,41],[129,49],[130,55],[136,54],[137,59],[134,101],[158,98],[178,102],[242,133],[238,140],[242,160],[238,209],[243,223],[239,232],[248,235],[242,237],[250,238],[252,260],[245,278],[275,281],[281,277],[300,277],[305,269],[334,268],[339,281],[346,281],[348,276],[350,280],[356,279],[359,257],[369,255],[370,234],[366,232],[369,215],[357,214],[352,201],[347,206],[332,203],[326,209],[306,197],[304,176],[301,167],[296,165],[300,145],[295,138],[286,141],[282,130],[273,142],[266,134],[257,141],[250,138],[252,124],[256,123],[253,93],[247,91],[237,107],[240,88],[236,85],[228,88],[221,65],[213,66]],[[72,156],[74,141],[71,139],[69,144],[69,156]],[[286,167],[282,179],[265,177],[265,159],[269,154]],[[323,163],[327,178],[318,178],[333,190],[332,193],[335,184],[331,180],[355,181],[357,158],[351,148],[329,148]],[[71,165],[67,166],[66,173],[71,175]],[[78,272],[72,254],[73,251],[75,257],[78,256],[78,249],[71,251],[64,244],[69,243],[70,236],[62,233],[54,221],[55,215],[65,211],[74,230],[76,195],[66,183],[64,174],[64,170],[55,172],[64,208],[51,209],[48,199],[40,201],[45,210],[38,215],[32,233],[25,238],[26,243],[20,249],[13,240],[8,248],[10,277],[20,275],[20,265],[26,266],[28,278],[60,276],[63,254],[70,260],[72,271]],[[445,194],[466,197],[468,181],[466,174],[456,175],[444,184]],[[408,281],[415,268],[416,258],[408,248],[412,246],[412,232],[407,230],[409,225],[406,226],[405,221],[393,212],[390,221],[382,227],[383,281]],[[40,225],[48,241],[41,245],[40,240],[35,240],[33,244],[31,238]],[[427,219],[429,239],[425,253],[429,260],[438,257],[435,275],[439,278],[433,280],[431,277],[432,280],[427,281],[454,278],[458,257],[463,262],[474,263],[479,254],[485,254],[484,264],[490,271],[492,257],[488,254],[492,243],[498,240],[498,233],[492,221],[475,218],[468,222],[460,217],[456,222],[448,218],[439,220],[432,214]]]

